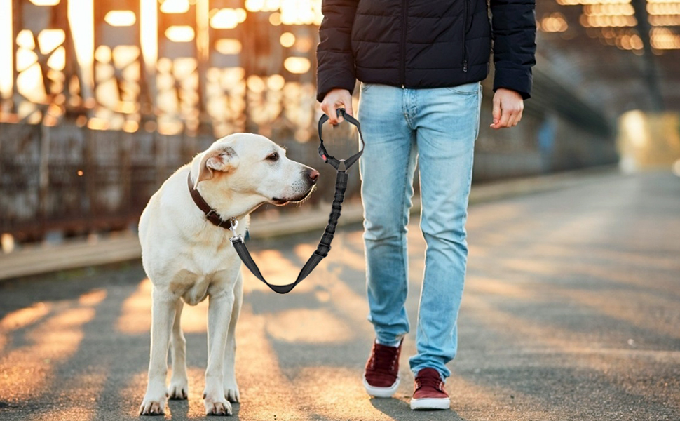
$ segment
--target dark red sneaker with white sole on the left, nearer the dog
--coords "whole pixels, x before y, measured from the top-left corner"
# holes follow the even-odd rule
[[[373,349],[364,370],[364,387],[369,395],[376,398],[391,398],[394,392],[397,392],[402,342],[403,339],[397,347],[373,342]]]

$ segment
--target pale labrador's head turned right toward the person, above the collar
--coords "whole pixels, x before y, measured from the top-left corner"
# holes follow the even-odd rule
[[[259,206],[306,199],[319,172],[286,157],[286,151],[261,135],[235,133],[214,142],[193,160],[194,188],[212,198]],[[208,197],[206,197],[208,199]]]

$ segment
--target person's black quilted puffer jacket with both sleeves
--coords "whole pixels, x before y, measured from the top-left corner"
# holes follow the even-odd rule
[[[494,91],[529,98],[536,1],[490,2],[491,22],[486,0],[323,0],[317,99],[333,88],[352,92],[355,79],[406,88],[481,81],[491,39]]]

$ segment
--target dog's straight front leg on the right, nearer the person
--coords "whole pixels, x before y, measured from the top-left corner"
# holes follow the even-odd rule
[[[231,320],[233,291],[210,295],[208,307],[208,368],[205,369],[203,401],[205,415],[231,415],[231,403],[224,396],[224,349]]]

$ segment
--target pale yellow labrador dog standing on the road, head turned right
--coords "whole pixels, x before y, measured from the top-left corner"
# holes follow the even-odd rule
[[[239,399],[234,373],[234,330],[243,302],[241,262],[229,229],[210,223],[194,203],[187,178],[223,220],[236,218],[244,235],[250,213],[264,203],[283,206],[311,194],[318,171],[287,159],[285,149],[261,135],[237,133],[217,140],[182,166],[151,196],[140,218],[142,264],[153,283],[149,383],[141,415],[161,415],[165,400],[186,399],[186,341],[179,319],[184,302],[210,297],[206,415],[231,415]],[[166,388],[168,347],[172,378]]]

